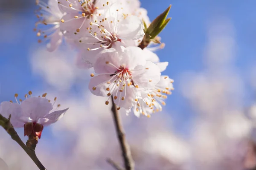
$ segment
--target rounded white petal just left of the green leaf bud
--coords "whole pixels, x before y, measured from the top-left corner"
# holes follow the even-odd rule
[[[145,35],[142,20],[130,15],[120,21],[117,36],[121,40],[137,40]]]

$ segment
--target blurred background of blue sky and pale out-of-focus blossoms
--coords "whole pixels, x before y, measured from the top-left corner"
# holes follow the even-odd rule
[[[162,112],[138,119],[121,111],[136,170],[256,169],[256,1],[141,0],[150,20],[172,4],[157,51],[175,80]],[[65,45],[49,53],[33,31],[34,0],[0,0],[0,102],[32,91],[70,110],[45,127],[38,158],[48,170],[113,170],[122,164],[105,99],[87,85]],[[102,103],[102,105],[100,104]],[[17,132],[23,137],[23,129]],[[0,128],[0,167],[36,170]],[[6,162],[5,163],[3,163]]]

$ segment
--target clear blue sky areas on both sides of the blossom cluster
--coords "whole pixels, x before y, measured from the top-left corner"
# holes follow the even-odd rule
[[[163,12],[169,4],[172,20],[160,34],[166,48],[158,51],[161,61],[168,61],[164,74],[175,80],[175,91],[167,100],[166,111],[172,114],[175,129],[186,133],[194,113],[189,102],[181,94],[180,74],[186,71],[204,70],[203,52],[207,43],[209,23],[226,17],[236,32],[236,60],[234,66],[245,82],[245,103],[253,100],[253,88],[249,84],[248,68],[256,64],[256,1],[254,0],[141,0],[151,20]],[[41,77],[32,74],[29,56],[31,47],[39,47],[33,32],[36,17],[35,6],[24,11],[11,11],[14,15],[0,13],[0,102],[13,99],[15,93],[26,94],[33,89],[43,91],[49,86]],[[16,13],[17,12],[17,13]],[[9,40],[10,34],[14,34]],[[218,57],[218,56],[216,56]],[[72,91],[72,90],[71,90]],[[79,94],[79,90],[75,90]],[[181,126],[180,126],[181,124]]]

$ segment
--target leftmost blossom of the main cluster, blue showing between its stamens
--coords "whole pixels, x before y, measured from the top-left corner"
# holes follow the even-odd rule
[[[63,39],[60,22],[64,13],[58,8],[57,0],[49,0],[48,4],[42,0],[36,0],[36,4],[40,8],[36,14],[38,22],[36,23],[35,31],[37,31],[38,37],[43,37],[43,40],[49,41],[47,50],[52,52],[58,48]],[[48,27],[48,29],[44,27]],[[42,40],[40,39],[38,42],[42,42]]]

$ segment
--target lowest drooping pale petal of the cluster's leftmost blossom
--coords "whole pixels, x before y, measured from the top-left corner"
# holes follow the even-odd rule
[[[62,33],[59,29],[57,29],[54,33],[51,35],[51,40],[47,44],[47,51],[52,52],[58,48],[58,46],[62,42]]]

